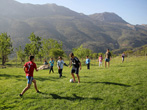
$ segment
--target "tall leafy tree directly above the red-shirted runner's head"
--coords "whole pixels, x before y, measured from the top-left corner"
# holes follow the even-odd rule
[[[31,33],[31,35],[28,37],[31,41],[30,44],[26,44],[25,46],[25,54],[27,56],[29,55],[37,55],[40,48],[41,48],[41,37],[37,36],[34,33]]]

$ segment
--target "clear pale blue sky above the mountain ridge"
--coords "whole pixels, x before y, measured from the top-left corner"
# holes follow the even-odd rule
[[[147,24],[147,0],[16,0],[21,3],[55,3],[86,15],[114,12],[131,24]]]

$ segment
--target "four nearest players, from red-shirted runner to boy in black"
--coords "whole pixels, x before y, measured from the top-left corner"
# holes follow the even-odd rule
[[[74,56],[73,53],[70,53],[69,55],[71,57],[71,61],[70,61],[70,67],[72,65],[72,69],[71,69],[71,75],[73,78],[73,82],[75,82],[75,76],[74,73],[76,74],[77,78],[78,78],[78,83],[80,83],[80,77],[79,77],[79,69],[81,70],[81,62],[80,60]],[[33,73],[34,73],[34,69],[36,71],[38,71],[36,64],[34,63],[35,61],[35,57],[34,56],[30,56],[30,61],[25,63],[24,65],[24,72],[26,73],[26,78],[27,78],[27,86],[24,88],[24,90],[21,92],[21,94],[19,94],[20,97],[23,96],[23,94],[30,88],[32,82],[34,83],[34,87],[36,89],[37,93],[41,93],[36,85],[36,80],[33,78]],[[53,66],[54,66],[54,61],[51,58],[51,61],[49,62],[51,65],[50,71],[49,73],[53,71]],[[57,62],[57,67],[58,67],[58,72],[59,72],[59,77],[62,77],[62,70],[63,70],[63,65],[68,66],[66,63],[64,63],[64,61],[62,60],[62,57],[59,57],[59,60]]]

